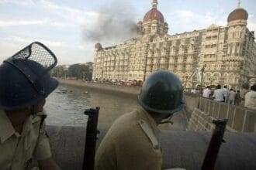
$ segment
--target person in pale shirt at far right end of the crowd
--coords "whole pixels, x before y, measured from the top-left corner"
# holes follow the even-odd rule
[[[245,94],[244,107],[256,110],[256,83],[251,86],[251,90]]]

